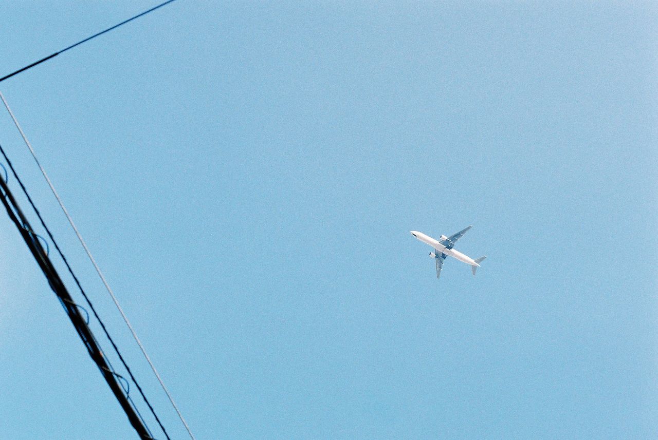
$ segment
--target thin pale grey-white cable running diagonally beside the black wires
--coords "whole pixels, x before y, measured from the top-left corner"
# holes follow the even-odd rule
[[[166,389],[164,386],[163,380],[160,377],[160,374],[158,374],[157,370],[155,369],[155,366],[151,362],[151,359],[149,358],[149,355],[146,354],[146,350],[144,349],[144,346],[141,345],[141,341],[137,337],[137,334],[135,333],[135,330],[132,328],[132,325],[130,324],[130,321],[128,320],[128,317],[126,317],[126,314],[124,313],[123,309],[119,305],[119,301],[116,299],[116,296],[114,296],[114,292],[112,292],[112,289],[110,288],[109,284],[107,284],[107,280],[105,280],[105,276],[101,272],[101,268],[98,267],[96,264],[96,260],[93,258],[91,255],[91,252],[89,251],[89,248],[87,247],[87,244],[84,242],[82,239],[82,235],[80,235],[80,232],[78,231],[78,228],[76,227],[75,223],[73,223],[73,219],[71,216],[68,214],[68,211],[64,207],[64,203],[62,202],[62,199],[59,198],[59,194],[57,194],[57,191],[55,190],[55,187],[53,186],[53,183],[50,181],[50,178],[45,172],[45,169],[43,169],[43,166],[41,166],[41,162],[37,159],[37,156],[34,152],[34,149],[32,148],[32,145],[30,145],[30,141],[28,141],[28,138],[25,136],[25,133],[23,133],[23,129],[20,128],[20,125],[18,124],[18,121],[16,120],[16,117],[14,116],[14,113],[11,111],[11,108],[9,108],[9,104],[7,104],[7,100],[5,100],[5,96],[0,92],[0,98],[2,99],[3,104],[5,104],[5,108],[7,108],[7,112],[9,112],[9,116],[11,116],[11,119],[14,121],[14,125],[16,125],[16,128],[20,132],[20,135],[23,138],[23,141],[25,141],[25,144],[30,148],[30,153],[32,153],[32,158],[34,158],[34,162],[39,166],[39,169],[41,169],[41,174],[43,174],[43,177],[45,177],[45,180],[48,183],[48,186],[50,187],[51,191],[55,195],[55,198],[57,198],[57,202],[59,203],[60,208],[62,208],[62,211],[64,211],[64,215],[66,215],[66,218],[68,219],[68,223],[70,223],[71,227],[73,228],[73,231],[76,232],[76,235],[78,236],[78,240],[80,240],[80,243],[82,244],[82,247],[84,248],[85,252],[87,253],[87,256],[91,260],[91,263],[93,264],[93,267],[95,267],[96,272],[98,275],[101,277],[101,280],[103,281],[103,284],[105,284],[105,288],[107,289],[107,292],[109,292],[110,296],[112,297],[112,300],[114,301],[114,305],[116,305],[116,308],[118,311],[121,313],[121,316],[123,317],[124,321],[126,322],[126,325],[130,329],[130,332],[132,333],[132,337],[135,338],[135,341],[137,341],[139,345],[139,349],[141,350],[141,353],[144,355],[146,358],[146,361],[149,363],[151,366],[151,370],[153,370],[153,373],[155,373],[155,377],[158,379],[158,382],[160,382],[161,387],[164,389],[164,392],[166,393],[167,397],[169,398],[169,401],[171,402],[171,405],[174,407],[176,412],[178,413],[178,417],[180,418],[180,421],[183,422],[185,425],[185,429],[188,430],[188,434],[190,434],[190,437],[192,440],[196,440],[194,438],[194,435],[192,435],[192,432],[190,431],[190,427],[188,426],[188,423],[185,421],[183,418],[183,414],[180,413],[180,410],[178,410],[178,406],[174,402],[174,398],[171,397],[169,391]]]

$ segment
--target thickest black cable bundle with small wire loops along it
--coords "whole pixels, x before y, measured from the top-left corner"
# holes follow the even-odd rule
[[[2,189],[2,197],[0,197],[0,200],[2,200],[2,204],[5,206],[5,209],[7,209],[9,218],[13,221],[14,225],[16,225],[18,232],[27,244],[30,252],[32,252],[32,255],[41,268],[43,275],[45,275],[48,280],[49,286],[53,292],[55,292],[55,295],[57,295],[57,298],[66,310],[66,314],[75,327],[76,332],[78,332],[78,336],[80,336],[80,339],[85,344],[89,356],[99,368],[103,378],[105,378],[105,382],[107,382],[114,393],[114,397],[116,397],[116,400],[123,408],[126,416],[128,416],[130,424],[132,424],[133,428],[137,431],[140,439],[153,440],[153,437],[143,422],[141,415],[139,415],[139,412],[134,408],[134,405],[132,405],[131,399],[124,395],[124,387],[118,382],[118,375],[113,372],[111,366],[109,366],[107,359],[103,355],[103,350],[98,345],[93,337],[91,329],[80,314],[80,309],[75,305],[68,290],[66,290],[66,286],[59,277],[50,257],[45,253],[39,240],[34,239],[31,232],[32,227],[30,226],[28,219],[22,213],[16,199],[14,199],[14,196],[11,193],[11,190],[9,190],[9,186],[3,179],[0,179],[0,188]]]

